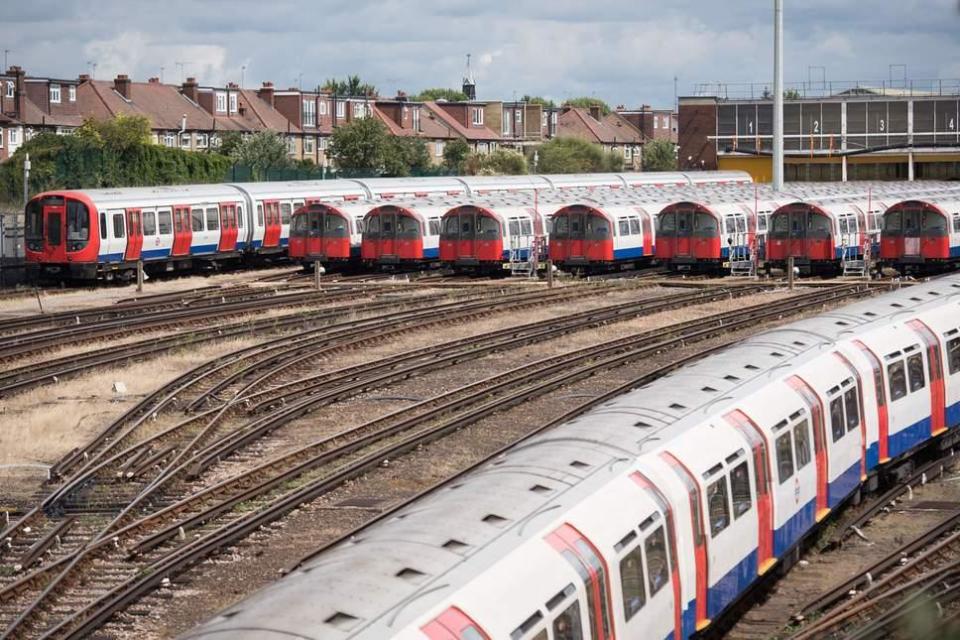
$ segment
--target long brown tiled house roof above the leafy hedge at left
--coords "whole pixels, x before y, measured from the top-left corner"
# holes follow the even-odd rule
[[[130,82],[130,99],[121,96],[113,81],[88,80],[77,89],[80,111],[100,119],[119,114],[142,115],[150,120],[152,129],[180,129],[186,116],[187,129],[209,131],[214,118],[200,105],[187,99],[176,85],[159,82]],[[226,129],[227,127],[221,127]]]

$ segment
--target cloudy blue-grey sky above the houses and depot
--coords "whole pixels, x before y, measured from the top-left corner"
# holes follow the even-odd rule
[[[787,82],[960,78],[960,0],[784,0]],[[771,0],[0,0],[0,49],[29,75],[161,76],[383,96],[667,107],[701,83],[770,83]],[[906,65],[903,66],[891,65]],[[906,73],[904,73],[906,71]],[[731,87],[732,90],[732,87]]]

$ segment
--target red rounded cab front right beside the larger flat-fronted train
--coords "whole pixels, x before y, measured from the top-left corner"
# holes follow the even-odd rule
[[[311,203],[293,213],[290,258],[304,265],[314,261],[345,262],[359,258],[350,244],[350,220],[337,207]]]

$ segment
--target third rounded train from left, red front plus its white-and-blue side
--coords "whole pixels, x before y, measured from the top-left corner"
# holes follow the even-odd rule
[[[544,218],[532,202],[461,204],[443,214],[440,261],[457,270],[502,272],[511,259],[543,257],[539,254],[545,236]]]

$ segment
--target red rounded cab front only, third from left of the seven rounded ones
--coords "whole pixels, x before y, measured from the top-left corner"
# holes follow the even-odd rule
[[[497,216],[483,207],[450,209],[440,223],[440,261],[458,271],[500,272],[505,259],[503,230]]]

